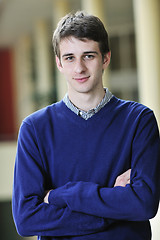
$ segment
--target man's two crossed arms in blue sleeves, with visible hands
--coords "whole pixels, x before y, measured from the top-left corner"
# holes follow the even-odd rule
[[[70,182],[44,197],[41,156],[32,137],[34,131],[24,124],[18,142],[12,201],[20,234],[83,235],[106,229],[110,219],[145,221],[153,217],[159,202],[159,139],[154,121],[152,128],[148,128],[148,122],[145,126],[134,139],[131,178],[129,169],[117,177],[111,188],[92,182]],[[27,144],[32,147],[28,149]]]

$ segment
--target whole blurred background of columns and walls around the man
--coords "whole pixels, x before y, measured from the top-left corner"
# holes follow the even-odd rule
[[[0,233],[16,233],[11,196],[16,141],[23,118],[59,101],[66,83],[55,66],[52,33],[70,11],[97,15],[109,33],[112,59],[104,85],[153,109],[160,126],[159,0],[0,0]],[[160,237],[160,213],[151,220]]]

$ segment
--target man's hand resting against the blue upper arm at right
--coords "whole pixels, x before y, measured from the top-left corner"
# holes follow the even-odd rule
[[[130,175],[131,175],[131,169],[128,169],[126,172],[119,175],[116,178],[114,187],[117,187],[117,186],[125,187],[127,184],[130,184]]]

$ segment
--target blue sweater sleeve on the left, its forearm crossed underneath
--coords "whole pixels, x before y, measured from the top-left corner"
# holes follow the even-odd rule
[[[46,173],[33,127],[23,123],[16,154],[12,211],[22,236],[74,236],[101,231],[106,220],[44,203]]]

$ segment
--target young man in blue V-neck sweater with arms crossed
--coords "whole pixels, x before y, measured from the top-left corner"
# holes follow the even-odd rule
[[[65,16],[53,45],[68,93],[21,125],[13,189],[17,231],[39,240],[149,240],[160,189],[154,114],[103,88],[111,54],[97,17]]]

